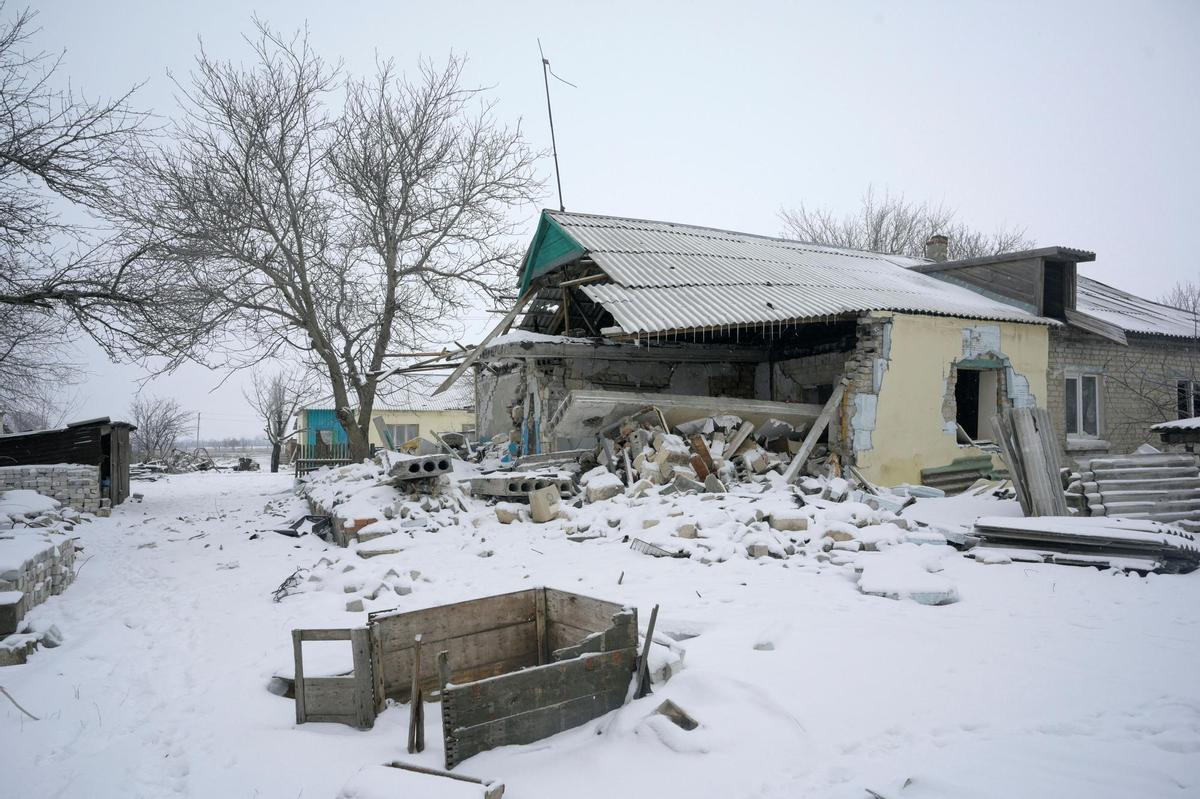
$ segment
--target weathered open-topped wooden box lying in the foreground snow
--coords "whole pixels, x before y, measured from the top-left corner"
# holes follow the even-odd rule
[[[442,698],[445,765],[527,744],[619,708],[637,662],[637,611],[616,602],[532,588],[422,611],[372,613],[355,630],[295,630],[296,722],[371,727],[386,699],[416,684]],[[346,639],[354,672],[304,677],[305,641]],[[443,686],[438,655],[446,653]]]

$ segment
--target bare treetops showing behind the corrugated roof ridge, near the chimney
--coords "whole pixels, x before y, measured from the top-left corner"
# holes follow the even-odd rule
[[[1024,229],[982,233],[959,222],[955,211],[944,205],[913,203],[889,192],[880,197],[872,187],[863,194],[859,209],[845,216],[803,203],[779,216],[784,235],[797,241],[914,258],[925,256],[925,242],[938,233],[950,240],[950,260],[1028,250],[1036,244]]]

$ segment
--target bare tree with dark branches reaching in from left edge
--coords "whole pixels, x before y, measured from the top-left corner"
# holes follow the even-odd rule
[[[97,217],[145,118],[128,108],[132,91],[59,88],[62,55],[31,49],[35,17],[0,20],[0,383],[26,386],[31,368],[55,368],[54,344],[73,326],[110,354],[149,343],[137,330],[152,328],[137,323],[168,288],[132,280],[137,248]]]

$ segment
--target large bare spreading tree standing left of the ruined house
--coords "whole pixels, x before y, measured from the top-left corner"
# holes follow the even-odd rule
[[[535,156],[456,58],[343,79],[306,35],[257,28],[248,67],[202,50],[172,143],[142,151],[120,211],[194,301],[190,353],[299,352],[364,457],[385,354],[511,283]]]

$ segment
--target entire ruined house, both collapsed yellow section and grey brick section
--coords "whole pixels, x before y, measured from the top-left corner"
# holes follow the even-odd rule
[[[467,361],[480,437],[510,434],[516,456],[593,446],[666,397],[799,434],[844,383],[828,451],[875,482],[937,485],[1003,469],[991,419],[1006,408],[1046,407],[1079,456],[1151,440],[1176,392],[1181,414],[1200,404],[1194,322],[1079,276],[1093,253],[946,248],[544,211],[518,302]]]

